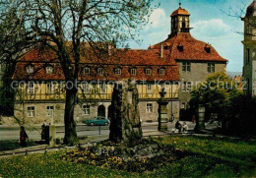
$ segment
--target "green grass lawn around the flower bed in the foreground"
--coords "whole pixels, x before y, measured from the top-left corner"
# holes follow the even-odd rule
[[[155,172],[130,173],[61,160],[62,152],[2,158],[0,177],[252,177],[256,143],[196,137],[164,137],[161,145],[183,150],[185,157]]]

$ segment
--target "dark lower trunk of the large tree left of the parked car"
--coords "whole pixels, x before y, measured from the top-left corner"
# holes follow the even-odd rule
[[[75,83],[73,83],[75,84]],[[77,142],[76,123],[74,120],[74,109],[76,105],[78,89],[66,89],[66,104],[65,104],[65,145],[74,145]]]

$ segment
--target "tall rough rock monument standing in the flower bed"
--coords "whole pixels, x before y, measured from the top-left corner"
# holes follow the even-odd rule
[[[109,140],[120,143],[132,142],[142,138],[140,114],[138,110],[139,93],[135,82],[120,81],[115,83],[111,111],[109,112]]]

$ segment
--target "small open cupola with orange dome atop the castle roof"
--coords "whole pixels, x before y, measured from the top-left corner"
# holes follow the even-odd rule
[[[189,32],[189,16],[190,14],[179,3],[179,8],[175,10],[171,15],[171,34],[177,32]]]

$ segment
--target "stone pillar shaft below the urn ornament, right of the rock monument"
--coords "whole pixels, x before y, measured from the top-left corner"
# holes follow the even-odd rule
[[[168,116],[167,116],[167,101],[163,101],[160,99],[159,101],[159,131],[164,132],[167,131],[167,123],[168,123]]]

